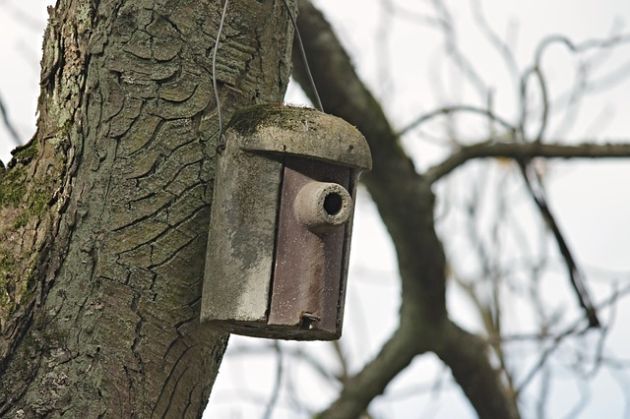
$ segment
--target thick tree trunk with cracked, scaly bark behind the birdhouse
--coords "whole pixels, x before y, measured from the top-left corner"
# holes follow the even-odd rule
[[[198,321],[222,7],[51,8],[38,130],[0,167],[1,417],[201,416],[227,341]],[[292,32],[282,0],[229,3],[224,121],[282,99]]]

